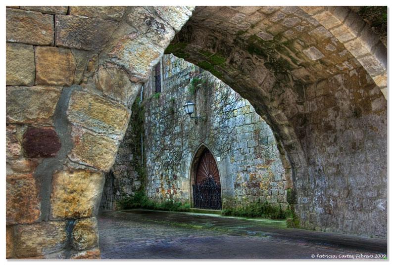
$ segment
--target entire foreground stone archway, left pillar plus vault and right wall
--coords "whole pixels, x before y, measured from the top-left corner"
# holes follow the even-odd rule
[[[367,25],[345,8],[193,11],[7,7],[7,258],[99,257],[103,173],[165,48],[271,126],[301,227],[386,236],[386,48]]]

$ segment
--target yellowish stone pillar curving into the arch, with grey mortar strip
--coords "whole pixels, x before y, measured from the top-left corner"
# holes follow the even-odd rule
[[[142,82],[190,16],[186,7],[6,8],[7,258],[99,258],[104,173]]]

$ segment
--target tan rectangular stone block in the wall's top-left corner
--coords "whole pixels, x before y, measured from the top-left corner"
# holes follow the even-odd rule
[[[53,16],[40,12],[6,8],[6,41],[53,45]]]

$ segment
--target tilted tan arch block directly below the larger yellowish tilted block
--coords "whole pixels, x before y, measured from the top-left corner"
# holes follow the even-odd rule
[[[75,147],[68,155],[71,161],[102,171],[110,170],[116,157],[117,141],[76,129],[73,141]]]

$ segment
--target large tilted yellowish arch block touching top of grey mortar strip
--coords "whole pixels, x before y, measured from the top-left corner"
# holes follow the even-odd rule
[[[74,91],[67,110],[68,120],[97,133],[124,135],[130,114],[121,104],[86,92]]]

